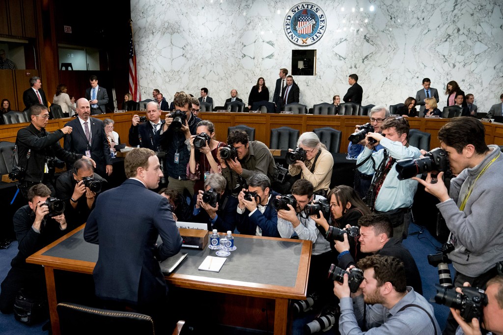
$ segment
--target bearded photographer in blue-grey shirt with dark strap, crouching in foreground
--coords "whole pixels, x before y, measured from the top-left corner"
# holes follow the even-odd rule
[[[360,260],[357,267],[364,271],[364,280],[353,298],[347,274],[343,284],[333,282],[333,293],[341,300],[341,335],[440,334],[432,305],[405,285],[402,261],[373,255]]]

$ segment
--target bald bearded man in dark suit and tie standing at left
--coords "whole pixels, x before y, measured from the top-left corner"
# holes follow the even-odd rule
[[[64,149],[93,158],[96,173],[100,176],[112,174],[110,144],[103,128],[103,121],[90,117],[91,108],[86,98],[77,100],[77,118],[66,123],[72,127],[72,133],[64,138]]]

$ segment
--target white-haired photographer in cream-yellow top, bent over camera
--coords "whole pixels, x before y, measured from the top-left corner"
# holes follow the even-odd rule
[[[313,184],[314,194],[326,196],[332,178],[332,154],[326,150],[324,144],[320,143],[318,136],[311,131],[300,135],[297,148],[305,152],[304,159],[290,164],[288,172],[291,176],[297,176],[300,173],[301,179],[306,179]],[[293,150],[289,149],[289,151]]]

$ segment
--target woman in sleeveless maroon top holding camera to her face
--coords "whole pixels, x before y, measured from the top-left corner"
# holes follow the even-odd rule
[[[202,120],[197,125],[197,135],[190,138],[190,159],[187,167],[187,178],[195,180],[195,194],[204,190],[204,181],[211,174],[221,174],[222,168],[217,158],[218,148],[227,145],[214,139],[215,126],[211,121]]]

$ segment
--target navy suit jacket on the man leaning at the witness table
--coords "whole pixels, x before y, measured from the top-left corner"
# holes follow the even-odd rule
[[[159,245],[157,236],[162,240]],[[98,297],[140,305],[165,299],[158,261],[178,254],[182,247],[166,198],[128,179],[100,195],[84,239],[100,244],[93,271]]]

